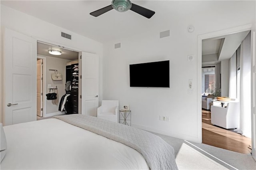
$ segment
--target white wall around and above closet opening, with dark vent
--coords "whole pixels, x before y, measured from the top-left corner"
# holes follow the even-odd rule
[[[4,28],[9,28],[17,32],[21,32],[28,36],[32,36],[38,40],[53,43],[55,45],[61,45],[70,49],[77,49],[80,51],[86,51],[89,53],[96,53],[99,55],[100,64],[100,88],[99,99],[102,99],[102,43],[96,42],[89,38],[80,36],[60,28],[38,18],[32,17],[25,13],[13,10],[4,5],[1,5],[1,57],[0,57],[0,112],[1,123],[3,122],[3,36]],[[64,31],[72,35],[72,40],[62,38],[60,32]],[[35,56],[36,57],[36,56]]]

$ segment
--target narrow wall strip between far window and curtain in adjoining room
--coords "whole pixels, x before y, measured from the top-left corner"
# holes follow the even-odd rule
[[[226,96],[228,97],[228,86],[229,86],[229,82],[228,82],[228,73],[229,73],[229,60],[223,60],[221,61],[220,64],[221,67],[221,96]]]

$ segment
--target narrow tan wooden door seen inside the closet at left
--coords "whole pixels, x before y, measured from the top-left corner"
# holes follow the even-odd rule
[[[43,60],[37,60],[36,72],[36,114],[40,117],[43,116]]]

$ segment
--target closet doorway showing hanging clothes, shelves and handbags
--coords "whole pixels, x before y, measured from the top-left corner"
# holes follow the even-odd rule
[[[49,50],[56,50],[60,51],[61,55],[52,55],[49,53]],[[66,95],[67,93],[70,93],[71,87],[74,87],[76,85],[76,94],[75,96],[77,99],[74,99],[74,101],[77,102],[77,110],[76,113],[80,112],[80,99],[78,98],[80,96],[81,90],[79,87],[81,87],[81,82],[79,82],[80,72],[78,71],[80,65],[80,52],[74,51],[71,49],[66,49],[64,47],[53,45],[49,43],[44,42],[37,42],[37,58],[38,62],[42,61],[42,68],[39,68],[38,64],[38,78],[37,78],[37,120],[49,118],[55,115],[63,115],[66,114],[66,109],[62,108],[62,103],[60,103],[62,97]],[[70,63],[76,63],[76,82],[74,85],[72,85],[72,80],[74,77],[72,77],[72,73],[70,70],[66,68],[67,65],[70,65]],[[69,66],[70,68],[70,66]],[[78,68],[78,69],[77,69]],[[72,69],[72,68],[70,68]],[[61,80],[53,80],[52,79],[52,73],[55,71],[58,71],[62,75]],[[41,73],[39,73],[41,72]],[[42,79],[40,79],[40,75],[42,76]],[[71,85],[69,88],[66,88],[66,84],[68,82],[68,85]],[[71,84],[70,84],[71,81]],[[51,92],[50,92],[50,89]],[[57,93],[57,99],[55,100],[47,100],[46,94],[47,93]],[[73,98],[70,97],[70,101],[73,100]],[[69,101],[69,102],[70,102]],[[70,102],[70,107],[74,106],[74,103]],[[71,112],[68,112],[71,113]],[[73,109],[72,109],[73,113]]]

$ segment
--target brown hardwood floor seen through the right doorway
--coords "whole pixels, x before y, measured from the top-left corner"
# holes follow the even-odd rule
[[[247,138],[224,128],[211,124],[211,112],[202,110],[202,143],[218,148],[249,154],[252,150],[251,138]]]

